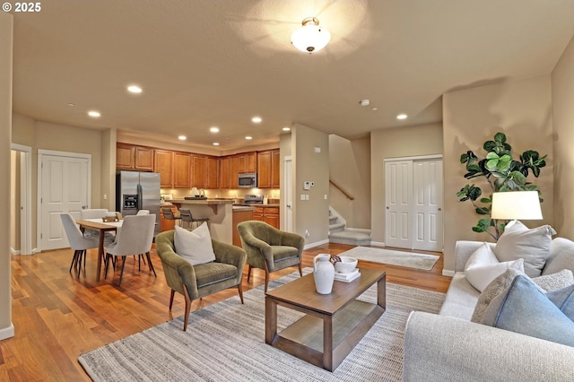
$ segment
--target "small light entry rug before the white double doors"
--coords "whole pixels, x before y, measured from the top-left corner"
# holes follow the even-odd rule
[[[417,254],[413,252],[394,251],[391,249],[373,247],[354,247],[339,256],[351,256],[359,260],[383,263],[388,265],[406,266],[407,268],[429,271],[435,265],[439,256]]]

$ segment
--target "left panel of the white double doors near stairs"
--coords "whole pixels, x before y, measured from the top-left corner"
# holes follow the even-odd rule
[[[385,245],[413,247],[413,161],[385,163]]]

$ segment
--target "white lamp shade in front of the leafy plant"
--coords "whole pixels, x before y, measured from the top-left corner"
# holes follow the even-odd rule
[[[538,191],[509,191],[492,194],[491,218],[542,220]]]

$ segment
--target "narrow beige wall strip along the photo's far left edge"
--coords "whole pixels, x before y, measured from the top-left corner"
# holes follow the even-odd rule
[[[0,13],[0,204],[10,204],[10,146],[12,143],[13,18]],[[13,337],[10,265],[10,216],[0,214],[0,340]]]

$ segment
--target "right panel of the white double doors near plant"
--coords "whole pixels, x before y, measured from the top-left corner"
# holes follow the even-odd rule
[[[413,161],[413,249],[442,250],[442,160]]]

